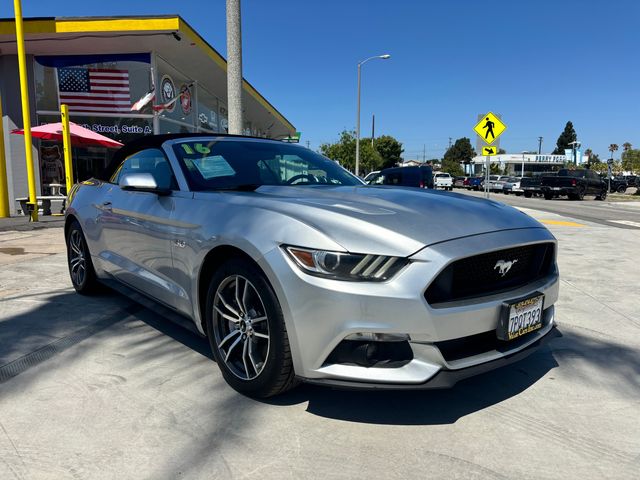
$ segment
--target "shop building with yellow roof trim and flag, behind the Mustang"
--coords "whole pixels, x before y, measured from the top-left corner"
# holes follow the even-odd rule
[[[226,60],[179,16],[32,18],[24,20],[24,31],[33,126],[59,122],[66,103],[71,121],[123,143],[154,133],[227,131]],[[150,92],[153,99],[132,110]],[[13,199],[28,188],[24,138],[10,135],[23,127],[13,18],[0,19],[0,95],[16,213]],[[295,134],[246,80],[243,106],[245,134]],[[34,139],[33,149],[38,192],[47,195],[49,185],[64,183],[62,146]],[[74,147],[75,178],[99,174],[112,155]]]

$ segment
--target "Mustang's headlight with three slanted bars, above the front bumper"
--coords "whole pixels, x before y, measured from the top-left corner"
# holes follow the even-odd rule
[[[398,273],[409,261],[400,257],[330,252],[283,246],[302,270],[318,277],[360,282],[383,282]]]

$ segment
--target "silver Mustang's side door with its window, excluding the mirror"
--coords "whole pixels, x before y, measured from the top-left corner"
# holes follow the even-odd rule
[[[173,306],[178,294],[171,275],[175,176],[162,150],[155,148],[127,157],[114,182],[127,173],[150,173],[159,187],[172,193],[158,195],[113,186],[97,219],[102,229],[102,264],[116,280]]]

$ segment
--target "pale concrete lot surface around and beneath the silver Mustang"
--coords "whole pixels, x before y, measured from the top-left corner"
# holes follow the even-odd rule
[[[0,233],[0,478],[637,478],[640,231],[527,213],[560,242],[562,338],[451,390],[268,401],[194,334],[75,294],[60,228]]]

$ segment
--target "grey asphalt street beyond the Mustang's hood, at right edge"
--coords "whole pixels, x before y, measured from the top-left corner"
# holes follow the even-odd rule
[[[455,191],[475,197],[484,197],[484,192],[462,189],[456,189]],[[515,207],[556,213],[601,225],[640,229],[640,201],[616,202],[615,200],[607,200],[600,202],[594,200],[593,197],[585,197],[583,201],[572,201],[566,198],[545,200],[542,197],[524,198],[523,196],[518,197],[516,195],[504,195],[502,193],[492,193],[490,198],[491,200]]]

